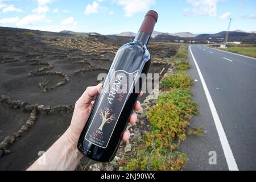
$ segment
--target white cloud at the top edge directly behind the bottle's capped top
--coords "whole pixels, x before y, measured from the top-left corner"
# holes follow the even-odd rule
[[[118,5],[123,6],[126,17],[131,17],[135,13],[144,12],[150,9],[150,6],[155,5],[155,0],[114,0]]]

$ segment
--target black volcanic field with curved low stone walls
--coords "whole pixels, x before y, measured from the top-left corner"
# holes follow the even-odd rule
[[[69,126],[76,100],[130,41],[0,27],[0,170],[24,170],[46,151]],[[149,72],[160,73],[168,66],[161,60],[177,47],[151,43],[148,49]]]

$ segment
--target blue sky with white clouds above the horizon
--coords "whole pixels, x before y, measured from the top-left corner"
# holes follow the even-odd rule
[[[0,0],[0,26],[119,34],[137,32],[148,10],[155,31],[217,33],[256,30],[255,0]]]

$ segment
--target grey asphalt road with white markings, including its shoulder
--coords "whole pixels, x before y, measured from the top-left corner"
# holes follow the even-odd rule
[[[200,110],[191,123],[205,133],[182,144],[185,169],[256,170],[256,59],[194,45],[189,60]]]

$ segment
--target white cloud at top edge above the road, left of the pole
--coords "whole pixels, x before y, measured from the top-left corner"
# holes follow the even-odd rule
[[[186,8],[183,12],[187,15],[200,16],[216,16],[218,0],[187,0],[192,7]]]

